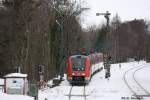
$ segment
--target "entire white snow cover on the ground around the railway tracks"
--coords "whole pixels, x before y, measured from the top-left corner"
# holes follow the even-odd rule
[[[150,92],[150,64],[145,61],[121,63],[111,65],[111,77],[105,79],[105,71],[97,73],[93,76],[89,85],[85,87],[86,100],[137,100],[133,97],[133,93],[129,90],[124,82],[124,73],[131,68],[139,68],[147,66],[135,73],[135,78],[138,82]],[[131,79],[132,73],[127,74],[126,78]],[[133,81],[133,80],[132,80]],[[130,83],[130,82],[129,82]],[[130,83],[132,85],[132,82]],[[136,88],[134,86],[134,88]],[[67,80],[63,81],[60,86],[39,91],[39,100],[69,100],[69,92],[71,86]],[[75,86],[72,88],[70,100],[84,100],[80,95],[83,94],[83,86]],[[138,91],[138,90],[137,90]],[[18,95],[7,95],[0,93],[0,100],[33,100],[33,98],[18,96]],[[142,100],[150,100],[150,97],[143,98]]]

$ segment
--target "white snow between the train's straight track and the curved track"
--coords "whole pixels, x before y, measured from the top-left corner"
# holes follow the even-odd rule
[[[89,100],[121,100],[124,97],[131,98],[132,93],[123,81],[124,72],[132,67],[141,66],[144,63],[122,63],[121,69],[119,68],[119,64],[113,64],[109,80],[104,79],[104,71],[96,75],[90,83],[91,86],[96,87],[95,92],[89,96]]]

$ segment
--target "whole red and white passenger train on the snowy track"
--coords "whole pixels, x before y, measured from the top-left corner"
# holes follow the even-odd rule
[[[97,63],[103,62],[102,53],[94,53],[88,56],[73,55],[67,60],[67,79],[72,83],[89,83],[92,75],[102,69],[96,66]]]

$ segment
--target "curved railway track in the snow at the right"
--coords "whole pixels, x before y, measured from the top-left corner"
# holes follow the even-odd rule
[[[129,90],[133,93],[133,96],[141,100],[143,97],[150,97],[150,92],[146,90],[135,78],[138,71],[150,67],[150,65],[143,65],[131,68],[124,73],[123,80]],[[130,77],[128,77],[130,75]],[[131,77],[132,76],[132,77]]]

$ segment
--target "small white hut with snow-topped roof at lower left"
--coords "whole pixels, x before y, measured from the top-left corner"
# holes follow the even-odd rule
[[[4,80],[4,92],[7,94],[26,95],[28,92],[27,74],[11,73],[6,75]]]

